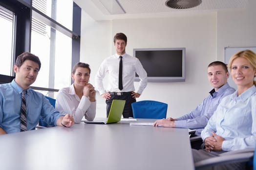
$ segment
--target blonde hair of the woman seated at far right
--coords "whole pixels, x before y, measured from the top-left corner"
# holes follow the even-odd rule
[[[243,57],[249,61],[249,63],[253,66],[254,70],[256,70],[256,54],[251,50],[244,50],[235,53],[229,60],[228,68],[231,70],[233,61],[238,58]],[[255,76],[254,76],[255,77]],[[256,81],[254,81],[254,85],[256,86]]]

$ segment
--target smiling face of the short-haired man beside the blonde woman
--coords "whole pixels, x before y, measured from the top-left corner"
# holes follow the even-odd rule
[[[225,85],[229,78],[229,72],[226,72],[221,65],[210,66],[207,68],[208,80],[217,91],[222,85]]]

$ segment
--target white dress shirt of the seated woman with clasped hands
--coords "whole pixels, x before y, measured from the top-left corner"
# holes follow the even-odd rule
[[[59,90],[55,108],[61,113],[72,114],[75,123],[80,123],[84,116],[85,119],[92,121],[96,114],[96,102],[90,102],[85,96],[80,100],[74,84]]]

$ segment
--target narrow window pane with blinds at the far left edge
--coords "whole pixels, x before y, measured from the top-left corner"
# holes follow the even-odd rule
[[[0,74],[12,75],[13,66],[13,37],[15,15],[13,12],[0,6],[0,47],[1,47],[1,62]],[[3,59],[4,58],[4,59]]]

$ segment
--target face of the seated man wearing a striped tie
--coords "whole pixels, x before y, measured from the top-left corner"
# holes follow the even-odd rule
[[[20,68],[14,66],[14,72],[16,73],[15,82],[23,89],[29,88],[36,79],[39,72],[39,65],[31,60],[25,60]]]

